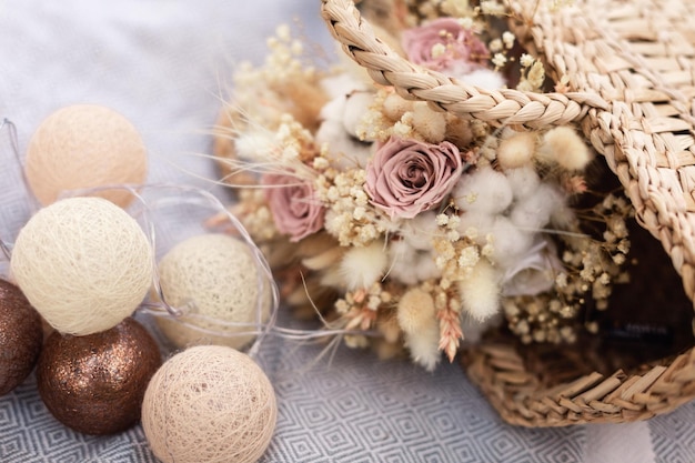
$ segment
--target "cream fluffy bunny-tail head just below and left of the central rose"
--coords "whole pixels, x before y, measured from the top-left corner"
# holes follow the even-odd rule
[[[384,246],[380,242],[374,242],[364,248],[352,248],[340,264],[348,289],[351,291],[369,288],[386,271],[389,258]]]

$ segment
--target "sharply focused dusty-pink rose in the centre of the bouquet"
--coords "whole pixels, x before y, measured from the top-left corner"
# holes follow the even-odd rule
[[[455,144],[431,144],[392,137],[366,167],[364,189],[392,218],[412,219],[435,208],[464,170]]]

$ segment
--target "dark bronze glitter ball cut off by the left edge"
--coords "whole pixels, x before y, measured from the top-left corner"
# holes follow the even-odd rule
[[[20,385],[37,364],[43,342],[41,315],[21,290],[0,280],[0,395]]]

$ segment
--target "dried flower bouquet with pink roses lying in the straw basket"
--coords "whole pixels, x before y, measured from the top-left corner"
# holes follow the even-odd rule
[[[412,63],[481,88],[542,92],[497,1],[365,2]],[[379,22],[380,11],[396,11]],[[239,217],[282,283],[352,346],[432,370],[506,325],[574,342],[585,305],[625,283],[629,202],[600,191],[602,160],[570,125],[492,127],[404,99],[362,68],[308,63],[280,28],[234,76],[215,154]]]

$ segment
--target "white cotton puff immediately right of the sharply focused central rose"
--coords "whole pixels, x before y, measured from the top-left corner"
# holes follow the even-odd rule
[[[503,212],[514,198],[506,177],[493,169],[480,169],[463,175],[452,194],[459,209],[488,214]]]

